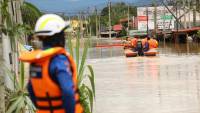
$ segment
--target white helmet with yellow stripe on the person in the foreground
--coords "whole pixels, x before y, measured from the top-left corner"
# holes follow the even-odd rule
[[[60,33],[67,26],[69,26],[69,22],[65,22],[60,16],[56,14],[45,14],[36,22],[35,35],[52,36]]]

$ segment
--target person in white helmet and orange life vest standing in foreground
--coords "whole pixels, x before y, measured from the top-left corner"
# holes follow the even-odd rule
[[[42,48],[22,53],[19,58],[30,63],[28,91],[37,108],[36,113],[83,112],[76,66],[64,49],[67,27],[60,16],[43,15],[37,20],[34,33]]]

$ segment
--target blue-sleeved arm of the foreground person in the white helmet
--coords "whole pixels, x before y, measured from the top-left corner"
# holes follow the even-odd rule
[[[58,83],[62,92],[63,107],[66,113],[74,113],[74,84],[69,61],[64,55],[57,55],[50,64],[50,75]]]

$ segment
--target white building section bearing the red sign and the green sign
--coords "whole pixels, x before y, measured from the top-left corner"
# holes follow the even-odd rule
[[[172,9],[169,6],[169,9]],[[138,7],[138,30],[147,30],[147,12],[148,12],[148,28],[150,30],[154,29],[154,12],[155,7]],[[175,19],[172,14],[164,7],[157,7],[157,29],[174,29]]]

